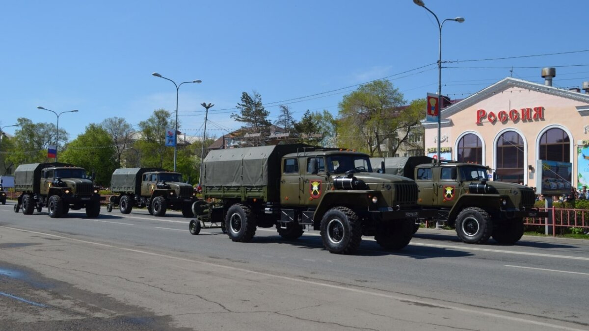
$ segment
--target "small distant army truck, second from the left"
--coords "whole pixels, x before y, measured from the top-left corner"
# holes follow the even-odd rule
[[[191,206],[196,193],[190,184],[182,183],[182,174],[160,168],[118,168],[112,173],[111,196],[107,211],[118,205],[121,213],[133,207],[147,207],[154,216],[166,215],[167,209],[181,210],[184,217],[193,217]]]

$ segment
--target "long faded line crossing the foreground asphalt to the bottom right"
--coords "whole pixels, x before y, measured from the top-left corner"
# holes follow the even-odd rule
[[[554,329],[571,330],[571,331],[585,331],[585,329],[575,329],[573,327],[567,327],[567,326],[551,324],[551,323],[546,323],[546,322],[538,322],[537,320],[535,320],[537,317],[534,317],[534,319],[525,319],[522,317],[501,315],[500,313],[482,312],[481,310],[475,310],[475,309],[464,308],[464,307],[459,307],[459,306],[452,306],[451,304],[440,304],[440,303],[437,303],[434,301],[425,301],[425,300],[416,300],[416,299],[408,300],[407,297],[396,296],[396,295],[388,294],[388,293],[373,292],[370,290],[358,289],[355,287],[340,286],[340,285],[331,284],[331,283],[322,283],[317,280],[307,280],[307,279],[299,279],[299,278],[294,278],[294,277],[289,277],[289,276],[280,276],[278,274],[273,274],[273,273],[259,272],[256,270],[249,270],[249,269],[244,269],[244,268],[239,268],[239,267],[224,266],[223,264],[217,264],[217,263],[213,263],[213,262],[191,260],[191,259],[186,259],[184,257],[177,257],[177,256],[166,255],[166,254],[153,253],[150,251],[129,249],[129,248],[125,248],[125,247],[118,247],[118,246],[114,246],[111,244],[102,244],[102,243],[96,243],[94,241],[75,239],[75,238],[70,238],[70,237],[65,237],[65,236],[58,236],[57,234],[50,234],[50,233],[44,233],[44,232],[38,232],[38,231],[17,229],[15,227],[8,227],[8,226],[0,226],[0,227],[4,228],[4,229],[9,229],[9,230],[22,231],[25,233],[34,233],[34,234],[41,234],[42,236],[55,237],[55,238],[59,238],[59,239],[67,239],[67,240],[71,240],[71,241],[77,241],[78,243],[85,243],[85,244],[91,244],[94,246],[107,247],[107,248],[115,249],[115,250],[131,251],[133,253],[139,253],[139,254],[145,254],[145,255],[157,256],[157,257],[164,257],[166,259],[172,259],[172,260],[177,260],[177,261],[201,264],[204,266],[212,266],[212,267],[217,267],[217,268],[221,268],[221,269],[256,274],[256,275],[269,277],[269,278],[283,279],[283,280],[288,280],[289,282],[298,282],[298,283],[309,284],[309,285],[314,285],[314,286],[327,287],[330,289],[337,289],[337,290],[343,290],[343,291],[348,291],[348,292],[353,292],[353,293],[365,294],[365,295],[369,295],[369,296],[384,297],[386,299],[397,300],[402,303],[427,304],[429,306],[441,307],[441,308],[445,308],[445,309],[454,309],[459,312],[464,312],[464,313],[469,313],[469,314],[483,315],[483,316],[494,317],[494,318],[498,318],[498,319],[511,320],[514,322],[527,323],[527,324],[531,324],[531,325],[552,327]],[[353,285],[350,284],[350,286],[353,286]],[[409,297],[411,297],[411,296],[409,296]],[[482,308],[482,309],[485,309],[485,308]],[[489,308],[489,310],[492,310],[492,309]]]

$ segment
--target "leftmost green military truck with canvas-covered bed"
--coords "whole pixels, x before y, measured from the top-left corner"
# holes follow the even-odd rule
[[[88,217],[100,214],[100,194],[84,168],[67,163],[21,164],[14,171],[14,189],[22,194],[15,213],[30,215],[48,208],[49,217],[61,217],[71,210],[86,208]]]

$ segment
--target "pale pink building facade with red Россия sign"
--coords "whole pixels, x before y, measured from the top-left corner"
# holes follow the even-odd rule
[[[508,77],[444,108],[441,116],[442,159],[483,164],[494,170],[494,180],[528,186],[536,186],[537,160],[572,163],[573,187],[589,181],[587,93],[552,87],[548,79],[542,85]],[[426,155],[432,156],[438,124],[423,127]]]

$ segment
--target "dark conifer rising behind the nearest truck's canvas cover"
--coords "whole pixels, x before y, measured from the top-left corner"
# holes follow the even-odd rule
[[[242,125],[241,131],[245,137],[248,137],[248,134],[252,136],[252,145],[261,145],[262,137],[268,134],[271,124],[267,119],[270,112],[262,105],[262,96],[256,91],[253,92],[253,97],[243,92],[241,103],[238,103],[236,108],[239,109],[240,114],[231,114],[231,118],[245,124]]]

